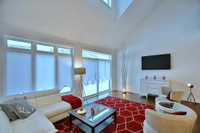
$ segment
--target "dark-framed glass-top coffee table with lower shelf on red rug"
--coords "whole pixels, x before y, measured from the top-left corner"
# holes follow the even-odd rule
[[[92,109],[91,109],[92,108]],[[85,114],[78,114],[80,109],[86,111]],[[94,110],[94,111],[92,111]],[[78,109],[69,111],[70,114],[70,131],[72,130],[72,123],[79,127],[86,133],[99,133],[106,128],[113,121],[117,122],[116,109],[104,106],[98,103],[87,104]],[[114,115],[114,119],[111,116]],[[72,121],[72,118],[76,118]]]

